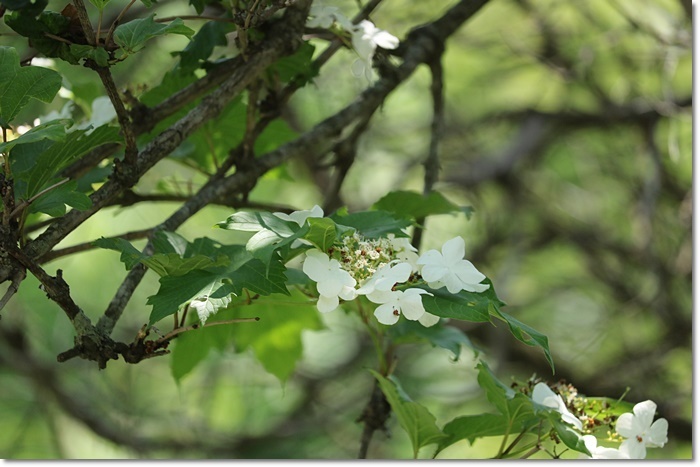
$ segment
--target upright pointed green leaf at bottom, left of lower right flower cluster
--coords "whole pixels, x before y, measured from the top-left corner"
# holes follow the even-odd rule
[[[376,371],[369,370],[379,383],[391,409],[396,414],[399,424],[411,440],[413,458],[418,458],[418,451],[428,444],[439,443],[445,434],[435,424],[435,416],[424,406],[413,402],[401,389],[396,378],[387,379]]]

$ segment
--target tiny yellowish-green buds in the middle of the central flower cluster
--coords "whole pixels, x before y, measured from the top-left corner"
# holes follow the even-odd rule
[[[394,250],[386,238],[367,239],[354,233],[343,239],[342,246],[331,247],[328,255],[335,257],[340,267],[361,283],[389,264],[394,259]]]

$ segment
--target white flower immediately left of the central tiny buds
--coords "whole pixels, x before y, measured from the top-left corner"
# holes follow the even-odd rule
[[[357,281],[340,268],[337,260],[330,259],[321,251],[307,251],[302,270],[316,282],[316,290],[320,295],[316,307],[322,313],[338,308],[339,298],[353,300],[357,296],[355,291]]]

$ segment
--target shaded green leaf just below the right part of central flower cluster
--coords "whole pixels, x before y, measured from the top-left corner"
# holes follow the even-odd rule
[[[411,339],[428,341],[433,347],[447,349],[454,355],[455,361],[462,353],[462,346],[472,349],[476,357],[480,350],[472,344],[467,335],[454,326],[437,323],[425,327],[417,321],[401,320],[389,328],[392,341],[410,342]]]

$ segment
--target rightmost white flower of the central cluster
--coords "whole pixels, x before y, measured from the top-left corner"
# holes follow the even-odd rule
[[[460,290],[483,292],[488,284],[480,284],[486,278],[474,265],[464,258],[464,239],[455,237],[442,245],[442,253],[426,251],[418,258],[422,265],[421,275],[433,289],[446,286],[450,293]]]

